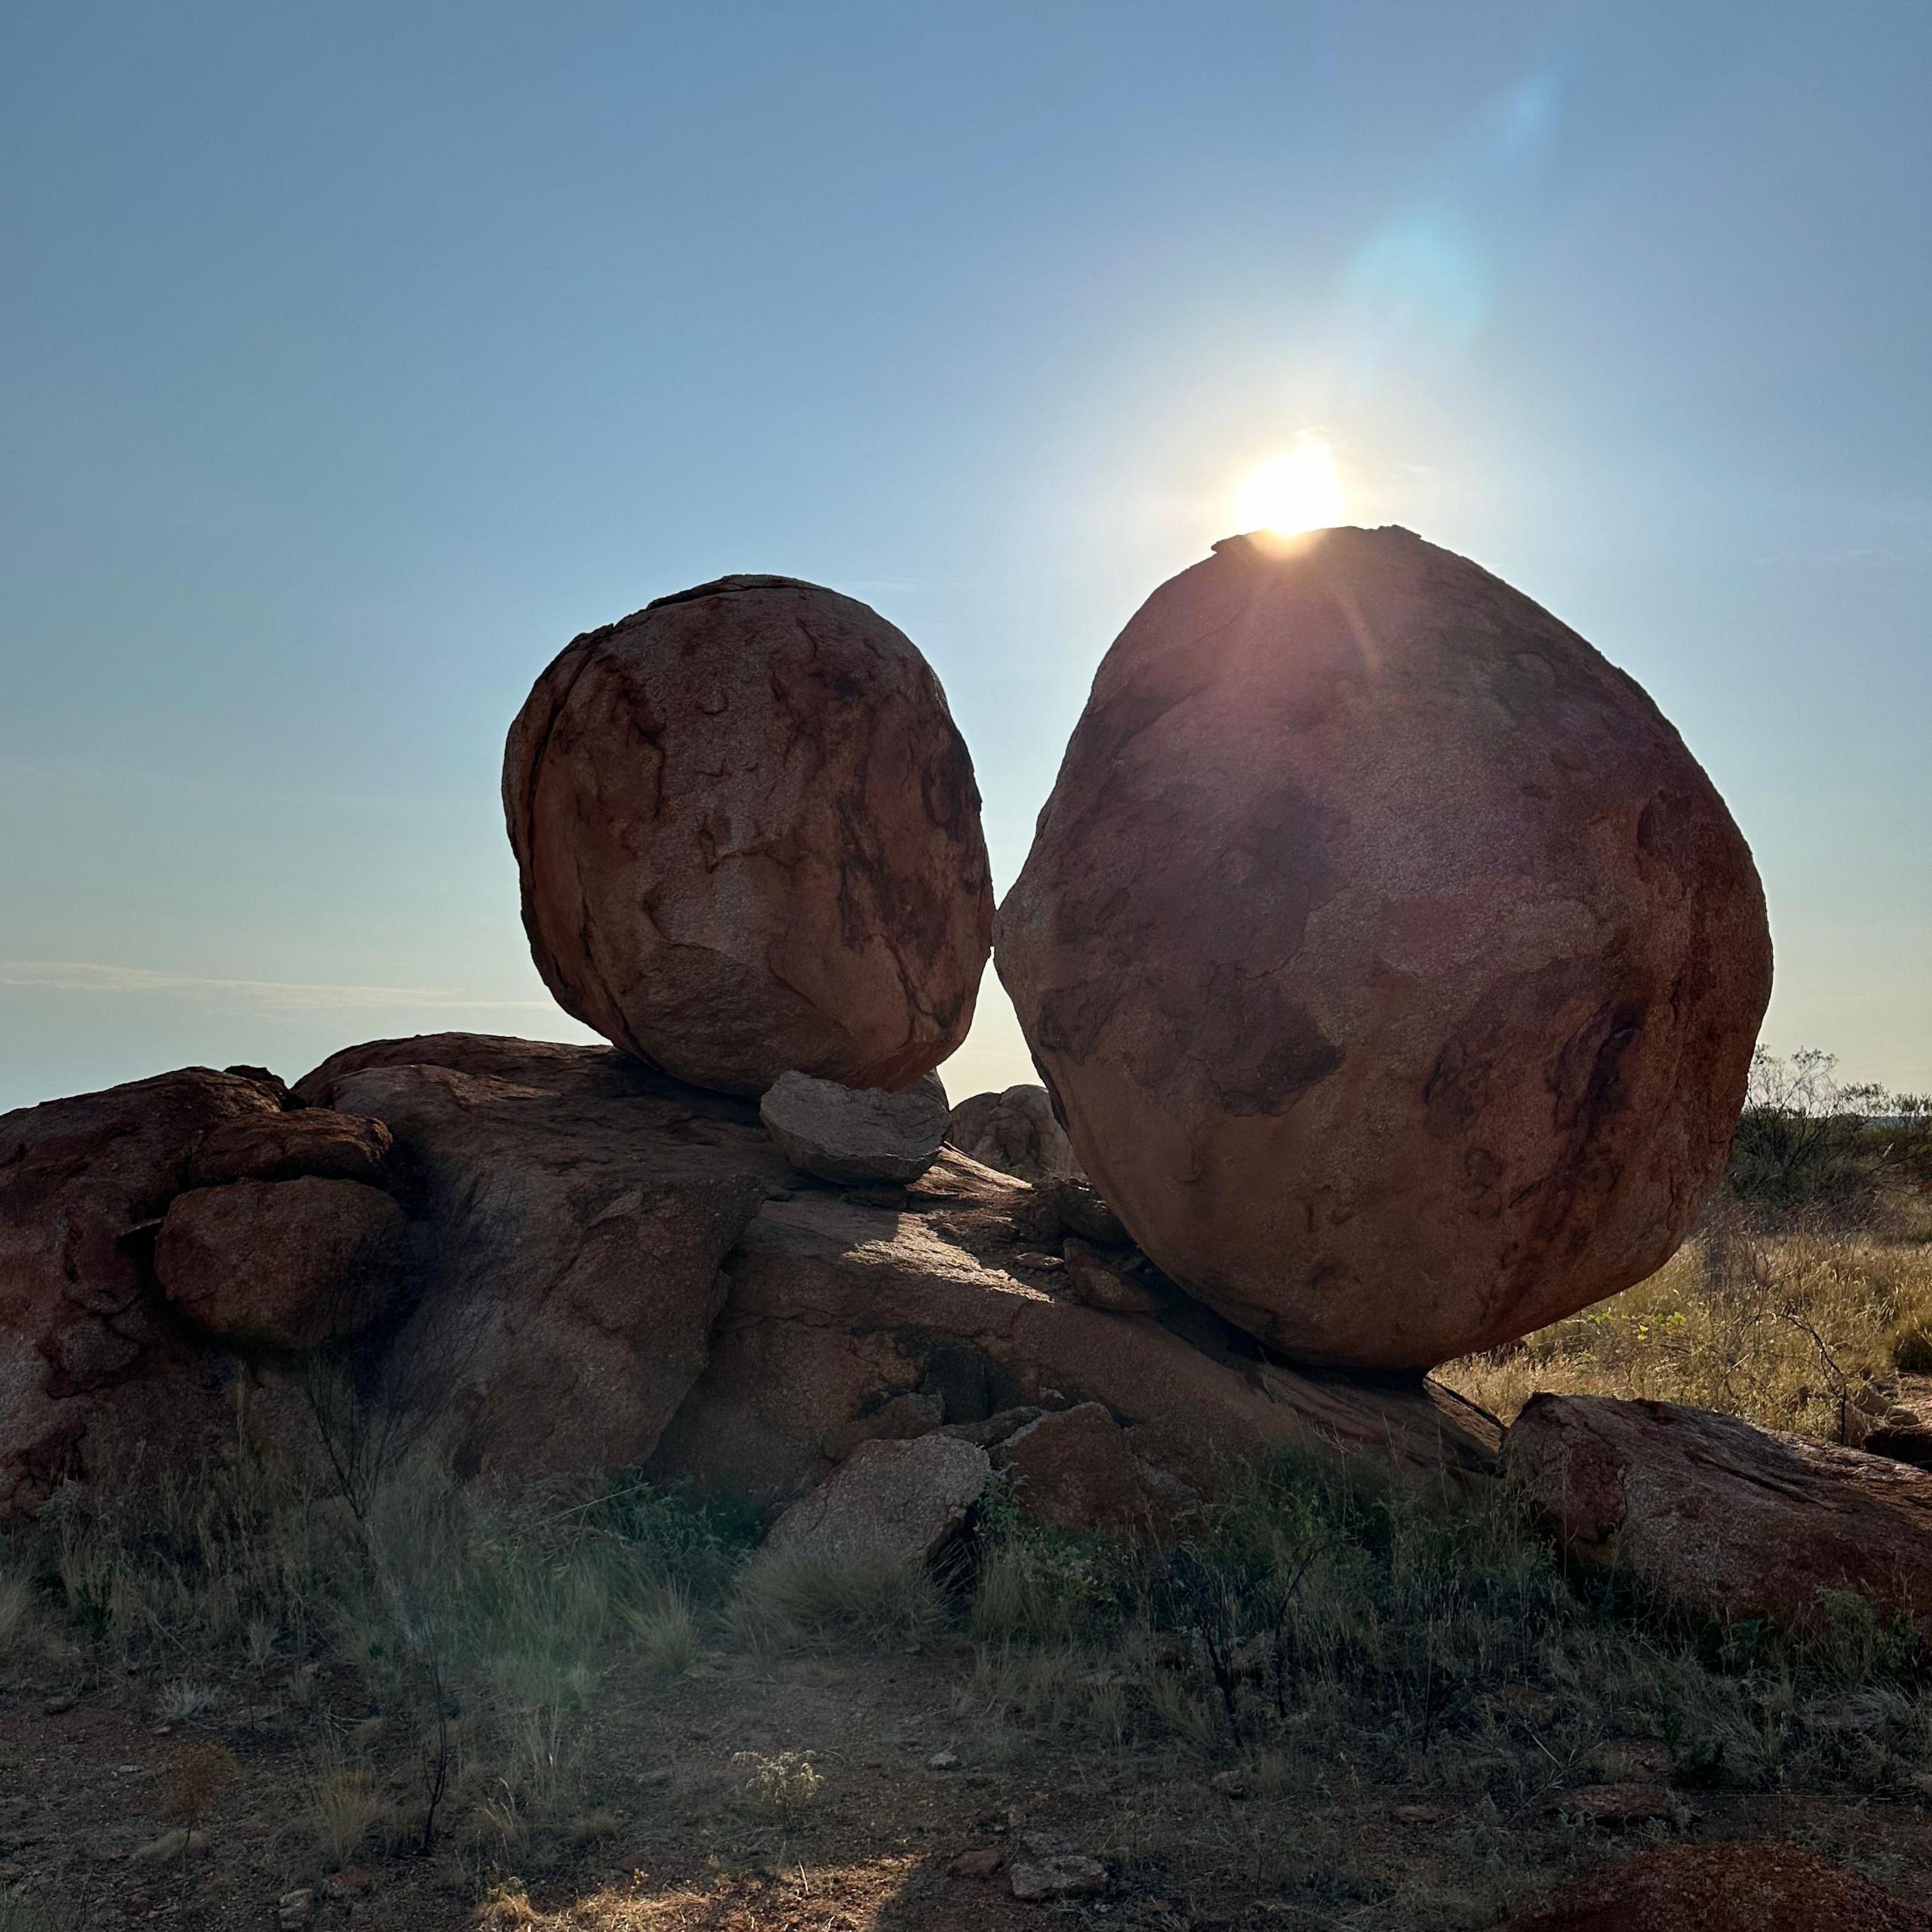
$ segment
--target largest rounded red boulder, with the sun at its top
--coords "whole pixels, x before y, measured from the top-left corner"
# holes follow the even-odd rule
[[[1422,1368],[1671,1254],[1772,949],[1631,678],[1449,551],[1329,529],[1215,545],[1121,634],[999,972],[1169,1275],[1300,1360]]]

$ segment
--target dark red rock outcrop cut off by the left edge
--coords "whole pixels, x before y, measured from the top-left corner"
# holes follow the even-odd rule
[[[155,1289],[155,1225],[205,1134],[278,1111],[270,1088],[189,1066],[0,1115],[0,1517],[232,1434],[222,1366]]]

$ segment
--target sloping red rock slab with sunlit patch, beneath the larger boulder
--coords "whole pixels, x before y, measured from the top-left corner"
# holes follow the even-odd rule
[[[1495,1424],[1435,1383],[1298,1376],[1198,1304],[1159,1320],[1084,1306],[1014,1233],[1030,1194],[949,1148],[902,1211],[769,1200],[724,1260],[711,1364],[651,1472],[786,1497],[871,1437],[1074,1403],[1200,1492],[1294,1443],[1408,1472],[1490,1466]]]

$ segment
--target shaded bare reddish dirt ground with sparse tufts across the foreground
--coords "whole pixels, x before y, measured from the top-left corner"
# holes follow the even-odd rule
[[[410,1739],[367,1737],[346,1673],[325,1673],[305,1712],[211,1687],[211,1708],[172,1725],[156,1723],[151,1681],[122,1677],[71,1706],[58,1685],[17,1685],[0,1704],[0,1886],[44,1909],[10,1918],[0,1905],[0,1926],[1486,1926],[1569,1870],[1673,1835],[1795,1839],[1905,1899],[1932,1897],[1932,1803],[1675,1793],[1671,1816],[1619,1828],[1567,1814],[1557,1770],[1517,1816],[1478,1816],[1439,1793],[1360,1785],[1345,1762],[1314,1799],[1271,1795],[1265,1762],[1009,1731],[970,1708],[968,1681],[952,1644],[877,1660],[707,1656],[668,1683],[620,1671],[583,1733],[558,1741],[578,1754],[572,1816],[535,1828],[464,1793],[431,1855],[392,1841],[342,1870],[313,1824],[317,1741],[365,1752],[398,1806],[425,1762]],[[143,1855],[195,1808],[184,1766],[207,1762],[211,1743],[232,1776],[197,1837],[185,1855],[178,1839]],[[1016,1899],[1009,1866],[1041,1832],[1101,1861],[1105,1889]],[[313,1897],[284,1915],[303,1888]]]

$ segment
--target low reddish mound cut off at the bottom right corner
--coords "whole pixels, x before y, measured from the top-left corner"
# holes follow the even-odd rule
[[[1499,1932],[1932,1932],[1932,1918],[1816,1851],[1719,1841],[1588,1872]]]

